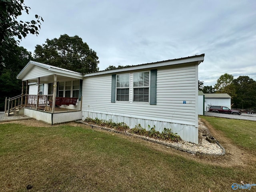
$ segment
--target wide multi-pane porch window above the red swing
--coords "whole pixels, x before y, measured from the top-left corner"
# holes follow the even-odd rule
[[[59,82],[58,96],[79,98],[79,88],[80,80]]]

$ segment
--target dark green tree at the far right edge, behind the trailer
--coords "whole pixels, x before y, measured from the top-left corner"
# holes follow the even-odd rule
[[[233,81],[236,96],[234,104],[236,108],[256,107],[256,81],[249,76],[239,76]]]

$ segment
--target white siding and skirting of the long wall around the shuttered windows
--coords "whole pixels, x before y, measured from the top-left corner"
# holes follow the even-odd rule
[[[127,118],[129,122],[126,123],[130,128],[139,123],[142,124],[142,120],[144,120],[144,128],[147,128],[148,122],[168,122],[172,124],[173,132],[177,132],[182,139],[197,142],[196,103],[198,98],[196,92],[198,92],[198,82],[196,81],[196,70],[197,63],[159,68],[157,71],[156,105],[150,105],[148,102],[131,102],[133,95],[130,95],[130,102],[111,103],[112,75],[85,77],[82,93],[83,118],[87,116],[100,118],[98,114],[108,116],[106,118],[112,117],[113,120],[118,117],[119,122],[125,122],[123,118]],[[137,72],[145,72],[145,70]],[[133,84],[132,78],[133,75],[130,75],[130,84]],[[130,90],[130,94],[131,92],[133,90]],[[183,104],[183,101],[186,101],[186,104]],[[154,124],[150,124],[150,126],[154,126]],[[157,129],[162,131],[164,123]]]

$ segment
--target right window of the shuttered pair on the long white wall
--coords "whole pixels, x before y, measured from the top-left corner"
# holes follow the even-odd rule
[[[133,74],[133,101],[149,102],[149,71]]]

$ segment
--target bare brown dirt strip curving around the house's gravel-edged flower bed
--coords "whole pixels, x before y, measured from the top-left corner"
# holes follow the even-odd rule
[[[161,144],[142,140],[135,136],[127,136],[127,135],[118,134],[118,133],[114,133],[114,134],[119,137],[122,137],[122,138],[129,137],[129,140],[131,140],[132,142],[143,143],[145,146],[148,146],[154,150],[158,150],[158,151],[170,154],[170,155],[183,156],[184,158],[187,158],[190,160],[195,160],[197,162],[201,162],[201,163],[205,163],[205,164],[230,167],[230,166],[247,166],[248,164],[255,163],[255,159],[256,159],[255,155],[249,154],[247,151],[242,150],[242,149],[238,148],[238,146],[232,144],[232,142],[228,138],[223,136],[222,132],[215,130],[206,120],[201,119],[201,121],[208,128],[211,135],[214,136],[220,142],[220,144],[225,148],[226,155],[224,155],[224,156],[196,156],[196,155],[188,154],[186,152],[181,152],[174,148],[168,148]],[[23,124],[26,126],[36,126],[36,127],[51,127],[52,126],[50,124],[46,124],[45,122],[34,120],[34,119],[21,120],[21,121],[16,121],[16,122],[2,122],[0,124],[5,124],[5,123],[17,123],[17,124]],[[67,122],[64,124],[69,125],[69,126],[80,126],[80,127],[90,128],[84,124],[80,124],[77,122]],[[60,124],[53,125],[53,126],[60,126]],[[103,132],[106,132],[109,134],[113,134],[113,132],[109,132],[109,131],[106,131],[103,129],[97,129],[97,130],[103,131]]]

